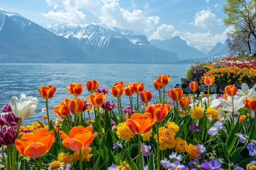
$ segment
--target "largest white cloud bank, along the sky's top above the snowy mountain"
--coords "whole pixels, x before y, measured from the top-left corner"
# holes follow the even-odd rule
[[[47,0],[53,10],[43,13],[44,16],[60,22],[79,23],[86,20],[83,10],[90,11],[99,18],[101,24],[115,26],[122,29],[146,34],[154,28],[160,20],[158,16],[144,16],[143,11],[128,11],[121,8],[118,0]],[[59,9],[60,8],[60,9]]]

